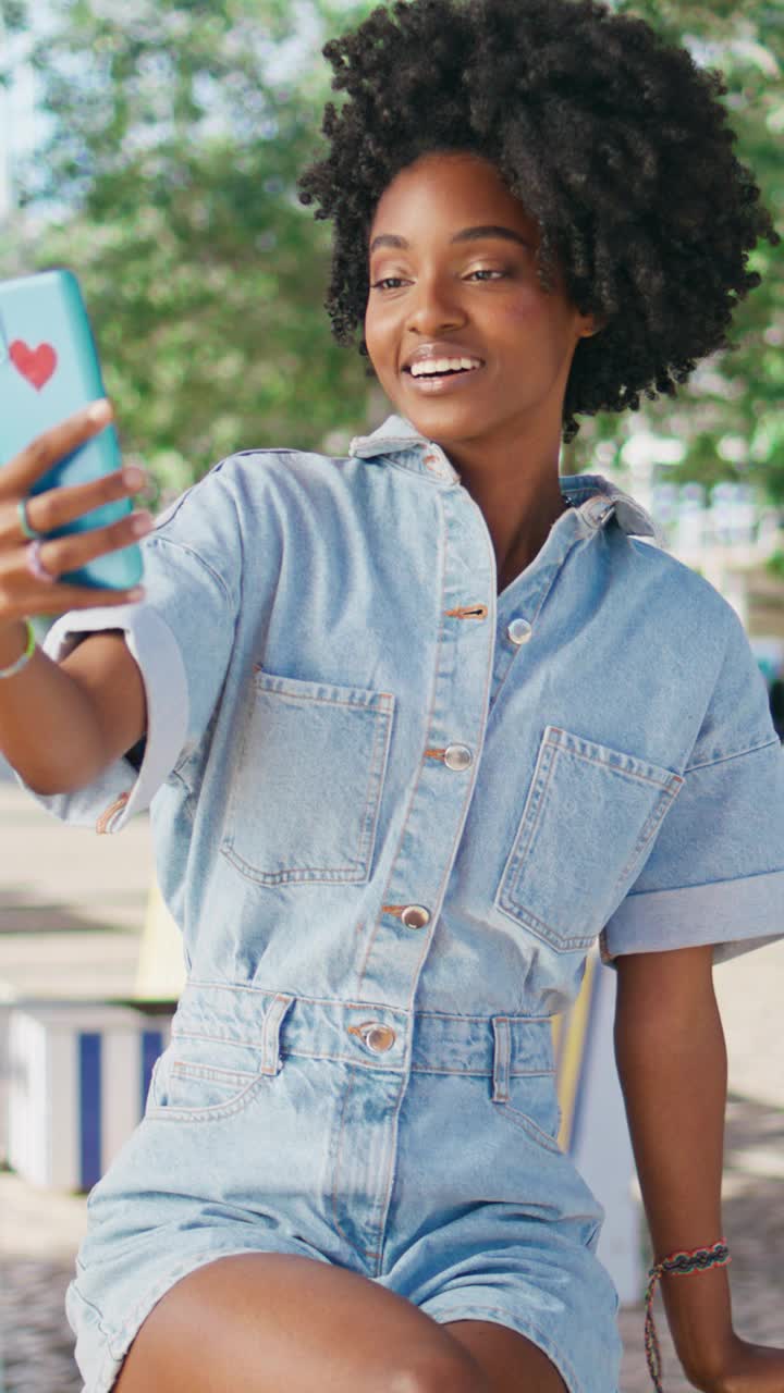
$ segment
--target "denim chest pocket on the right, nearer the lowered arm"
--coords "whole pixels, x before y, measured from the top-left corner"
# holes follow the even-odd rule
[[[547,726],[495,907],[554,949],[585,949],[636,878],[684,779]]]

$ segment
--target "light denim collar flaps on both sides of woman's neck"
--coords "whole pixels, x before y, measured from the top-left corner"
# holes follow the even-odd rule
[[[460,475],[441,446],[420,435],[406,417],[388,417],[371,435],[354,436],[349,454],[359,460],[393,454],[398,457],[396,464],[414,474],[439,483],[460,483]],[[559,483],[561,492],[589,528],[604,527],[614,517],[621,531],[629,536],[650,536],[658,546],[664,546],[663,534],[650,514],[601,474],[562,474]]]

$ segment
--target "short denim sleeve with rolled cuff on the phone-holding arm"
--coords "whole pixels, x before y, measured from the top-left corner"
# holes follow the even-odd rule
[[[232,653],[241,584],[241,538],[220,467],[163,513],[142,542],[144,600],[73,610],[46,635],[61,660],[88,634],[123,630],[144,680],[146,737],[75,793],[38,794],[54,816],[119,832],[144,811],[176,765],[204,736]],[[24,781],[20,779],[20,783]]]

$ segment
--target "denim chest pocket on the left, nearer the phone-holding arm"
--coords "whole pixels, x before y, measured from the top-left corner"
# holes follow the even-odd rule
[[[258,667],[223,855],[262,885],[368,879],[395,696]]]

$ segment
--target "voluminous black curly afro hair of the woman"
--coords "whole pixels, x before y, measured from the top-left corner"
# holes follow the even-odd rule
[[[596,0],[396,0],[322,52],[347,100],[326,104],[331,148],[299,189],[335,220],[338,343],[364,320],[384,189],[421,155],[470,150],[537,220],[543,288],[559,266],[572,304],[604,326],[575,352],[566,442],[576,412],[672,397],[727,347],[735,305],[760,283],[748,252],[780,237],[732,153],[718,71]]]

